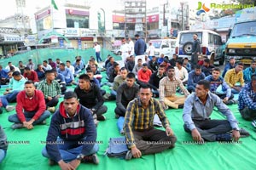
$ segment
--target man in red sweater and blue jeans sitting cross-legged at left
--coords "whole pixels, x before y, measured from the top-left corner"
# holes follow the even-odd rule
[[[45,119],[50,116],[45,111],[44,94],[36,90],[34,83],[29,80],[25,82],[25,90],[17,95],[17,114],[9,116],[9,122],[15,122],[13,129],[26,127],[32,129],[34,125],[45,124]]]

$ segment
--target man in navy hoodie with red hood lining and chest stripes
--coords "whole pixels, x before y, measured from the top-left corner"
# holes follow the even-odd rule
[[[51,118],[42,155],[49,158],[49,165],[58,163],[61,169],[76,169],[88,161],[98,164],[96,135],[90,110],[79,105],[75,93],[67,92]]]

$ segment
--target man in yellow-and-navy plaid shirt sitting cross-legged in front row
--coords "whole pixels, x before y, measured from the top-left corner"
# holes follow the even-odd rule
[[[160,117],[166,132],[154,129],[155,114]],[[172,149],[177,140],[165,111],[160,102],[152,98],[151,88],[146,84],[140,87],[139,97],[131,100],[127,106],[124,131],[126,142],[130,149],[126,153],[126,160]]]

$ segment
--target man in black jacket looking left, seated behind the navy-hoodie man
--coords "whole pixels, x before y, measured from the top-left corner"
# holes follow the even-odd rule
[[[78,95],[80,104],[90,109],[93,115],[96,114],[97,120],[106,120],[102,114],[108,111],[108,107],[103,105],[104,99],[100,88],[90,82],[88,75],[83,74],[79,77],[79,86],[74,89],[74,92]]]

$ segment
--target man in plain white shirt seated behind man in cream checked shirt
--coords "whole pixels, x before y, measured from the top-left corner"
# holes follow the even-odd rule
[[[186,84],[188,82],[189,74],[187,69],[183,67],[183,61],[178,59],[176,61],[176,66],[174,67],[174,69],[176,78],[181,80],[183,84]]]

